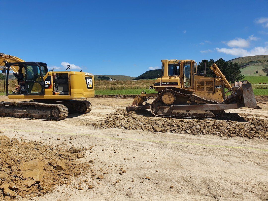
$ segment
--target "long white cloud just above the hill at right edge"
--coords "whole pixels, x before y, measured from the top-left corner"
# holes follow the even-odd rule
[[[267,55],[268,48],[267,47],[254,47],[252,50],[245,50],[242,48],[216,48],[218,52],[231,54],[234,56],[246,57],[246,56],[253,56],[253,55]]]

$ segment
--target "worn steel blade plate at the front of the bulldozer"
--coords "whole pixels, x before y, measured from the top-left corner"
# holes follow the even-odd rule
[[[243,98],[245,107],[253,109],[262,109],[257,105],[251,83],[242,84]]]

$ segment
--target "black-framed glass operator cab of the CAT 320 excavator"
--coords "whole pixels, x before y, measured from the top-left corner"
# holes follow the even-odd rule
[[[7,63],[6,93],[8,94],[8,81],[10,66],[16,66],[17,72],[13,72],[18,85],[13,90],[14,95],[44,95],[43,76],[48,72],[47,65],[41,62]]]

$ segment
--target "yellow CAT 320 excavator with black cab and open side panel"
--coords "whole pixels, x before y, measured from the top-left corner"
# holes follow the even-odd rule
[[[0,70],[5,74],[5,95],[9,99],[32,99],[0,102],[0,116],[62,120],[69,112],[85,114],[91,111],[91,103],[79,99],[94,97],[92,73],[71,71],[69,65],[65,71],[49,71],[46,63],[25,62],[3,53],[0,53]],[[17,85],[10,93],[8,86],[12,73]]]

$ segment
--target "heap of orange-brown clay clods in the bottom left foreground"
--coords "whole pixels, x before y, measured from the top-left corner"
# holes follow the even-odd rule
[[[75,162],[82,151],[0,136],[0,199],[42,196],[57,185],[69,185],[88,169]]]

